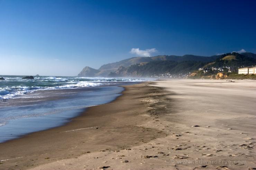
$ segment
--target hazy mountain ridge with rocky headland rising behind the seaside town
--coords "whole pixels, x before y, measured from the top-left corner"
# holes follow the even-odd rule
[[[230,54],[231,53],[227,53]],[[244,62],[248,60],[249,62],[256,59],[256,54],[245,52],[238,55],[239,60],[236,61],[236,65],[239,62]],[[203,64],[209,62],[216,62],[214,65],[221,65],[223,63],[233,63],[232,57],[228,57],[230,60],[223,59],[222,62],[219,61],[220,58],[225,57],[225,54],[215,55],[210,57],[205,56],[195,56],[195,55],[184,55],[184,56],[154,56],[154,57],[133,57],[125,60],[121,60],[114,63],[104,64],[98,70],[90,67],[85,67],[77,76],[78,77],[141,77],[148,76],[149,74],[159,73],[159,72],[184,72],[190,71],[192,69],[198,69],[202,67]],[[244,56],[244,58],[243,58]],[[250,59],[251,58],[251,59]],[[229,61],[229,62],[228,62]],[[182,65],[183,64],[183,65]],[[154,68],[148,67],[158,67]],[[143,73],[147,72],[147,73]]]

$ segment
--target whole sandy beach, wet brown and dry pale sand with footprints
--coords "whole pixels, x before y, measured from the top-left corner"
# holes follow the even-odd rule
[[[0,143],[0,169],[256,169],[256,83],[126,86],[65,126]]]

